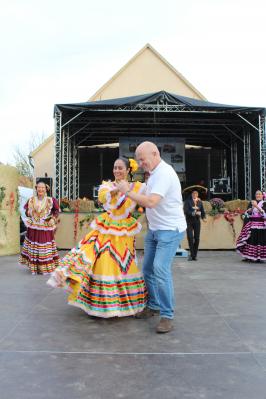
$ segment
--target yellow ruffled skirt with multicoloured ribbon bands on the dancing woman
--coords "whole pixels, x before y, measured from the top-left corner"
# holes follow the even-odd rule
[[[67,277],[68,303],[89,315],[131,316],[145,307],[147,292],[133,236],[93,230],[60,261],[54,275],[57,271]]]

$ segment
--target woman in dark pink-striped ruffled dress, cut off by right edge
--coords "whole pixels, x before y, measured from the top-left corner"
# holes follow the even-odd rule
[[[264,193],[257,190],[255,200],[246,211],[246,222],[237,239],[236,250],[246,261],[266,260],[266,202]]]

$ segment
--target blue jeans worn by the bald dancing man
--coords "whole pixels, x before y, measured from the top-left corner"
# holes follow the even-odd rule
[[[178,230],[148,230],[144,244],[143,275],[148,289],[150,309],[160,310],[160,316],[174,317],[174,287],[172,262],[185,232]]]

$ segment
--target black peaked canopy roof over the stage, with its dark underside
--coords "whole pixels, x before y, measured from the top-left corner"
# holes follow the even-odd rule
[[[176,136],[192,145],[230,145],[259,128],[261,107],[216,104],[160,91],[95,102],[56,104],[55,116],[76,145],[117,142],[122,136]]]

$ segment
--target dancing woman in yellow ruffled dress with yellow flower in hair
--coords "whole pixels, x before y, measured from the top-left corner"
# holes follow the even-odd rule
[[[68,303],[91,316],[132,316],[145,307],[146,287],[135,250],[141,225],[131,214],[137,204],[116,188],[116,183],[137,168],[133,159],[115,161],[115,180],[103,181],[98,192],[106,212],[93,220],[92,231],[60,261],[48,280],[54,287],[67,288]],[[131,183],[131,190],[138,193],[145,187]]]

